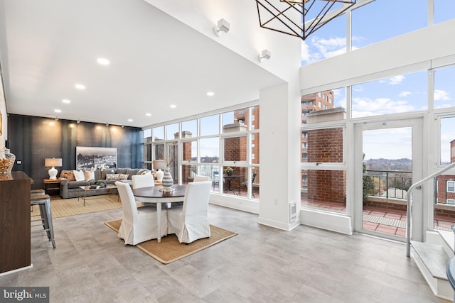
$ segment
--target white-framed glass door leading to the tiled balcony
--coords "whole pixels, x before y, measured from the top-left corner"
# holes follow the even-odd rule
[[[422,120],[355,124],[355,231],[405,241],[407,189],[422,179]],[[422,237],[422,189],[413,193],[413,238]]]

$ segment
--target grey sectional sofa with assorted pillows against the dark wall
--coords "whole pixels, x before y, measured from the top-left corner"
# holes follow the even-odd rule
[[[60,172],[60,197],[63,199],[77,198],[80,186],[96,185],[97,182],[100,181],[105,184],[113,184],[116,181],[131,184],[131,177],[133,175],[144,175],[150,173],[152,173],[151,170],[139,168],[109,168],[104,170],[82,170],[82,177],[81,171],[62,170]],[[113,190],[115,191],[116,189]],[[86,193],[87,196],[94,196],[98,194],[109,194],[109,189],[93,190]]]

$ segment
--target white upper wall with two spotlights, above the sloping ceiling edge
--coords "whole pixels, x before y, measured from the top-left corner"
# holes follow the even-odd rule
[[[256,1],[144,1],[285,81],[296,77],[295,70],[299,69],[301,62],[301,40],[260,28]],[[221,18],[230,23],[230,31],[217,37],[213,27]],[[264,49],[272,52],[272,58],[260,63],[257,56]]]

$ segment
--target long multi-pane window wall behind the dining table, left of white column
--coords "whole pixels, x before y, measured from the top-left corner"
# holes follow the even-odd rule
[[[215,193],[259,199],[259,106],[145,130],[146,167],[166,160],[168,145],[178,147],[180,170],[174,182],[185,184],[204,175],[213,181]]]

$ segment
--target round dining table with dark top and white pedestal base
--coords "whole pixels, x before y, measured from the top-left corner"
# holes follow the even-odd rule
[[[141,187],[133,189],[134,199],[137,202],[156,204],[156,224],[158,224],[158,243],[161,242],[161,209],[162,204],[183,202],[186,185],[173,185],[172,192],[162,192],[161,186]]]

